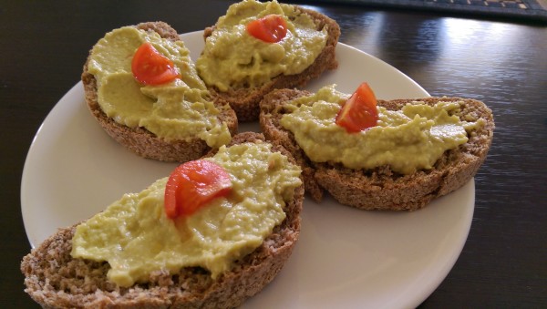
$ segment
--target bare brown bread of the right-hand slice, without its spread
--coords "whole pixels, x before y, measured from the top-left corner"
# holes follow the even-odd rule
[[[378,100],[377,105],[397,110],[410,101],[435,105],[439,101],[460,101],[460,119],[486,120],[480,129],[469,134],[469,140],[457,149],[445,151],[431,170],[418,170],[401,175],[389,166],[373,170],[347,169],[339,163],[318,163],[309,160],[294,139],[292,132],[280,125],[284,103],[309,92],[298,89],[276,90],[261,102],[260,125],[266,139],[275,140],[293,153],[303,169],[305,191],[315,201],[321,201],[328,191],[336,201],[364,210],[414,211],[433,199],[459,189],[466,184],[486,159],[493,139],[494,119],[490,108],[469,98],[418,98]]]

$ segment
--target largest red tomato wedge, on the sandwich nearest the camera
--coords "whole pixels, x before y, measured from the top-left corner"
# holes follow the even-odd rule
[[[165,186],[165,213],[170,219],[188,216],[213,199],[232,191],[226,170],[210,160],[181,164],[170,174]]]

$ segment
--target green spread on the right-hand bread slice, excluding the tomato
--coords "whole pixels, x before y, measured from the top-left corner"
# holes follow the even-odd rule
[[[460,102],[439,102],[431,107],[412,102],[400,110],[377,107],[378,122],[358,133],[335,124],[341,103],[349,95],[335,86],[315,95],[296,98],[284,108],[281,125],[293,132],[305,154],[315,162],[342,163],[349,169],[374,169],[389,165],[401,174],[428,170],[447,149],[468,141],[468,132],[482,122],[461,121]]]

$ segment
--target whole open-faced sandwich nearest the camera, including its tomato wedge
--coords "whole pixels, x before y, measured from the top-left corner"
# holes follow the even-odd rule
[[[144,191],[60,229],[21,263],[45,308],[232,308],[284,266],[301,170],[262,134],[234,136]]]

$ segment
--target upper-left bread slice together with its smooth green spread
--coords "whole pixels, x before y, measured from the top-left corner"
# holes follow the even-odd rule
[[[152,46],[153,59],[168,63],[177,77],[141,82],[134,76],[136,51],[145,43]],[[141,61],[144,69],[147,60]],[[91,114],[110,137],[141,157],[194,160],[237,131],[232,108],[213,100],[189,50],[163,22],[109,32],[91,49],[81,78]]]

